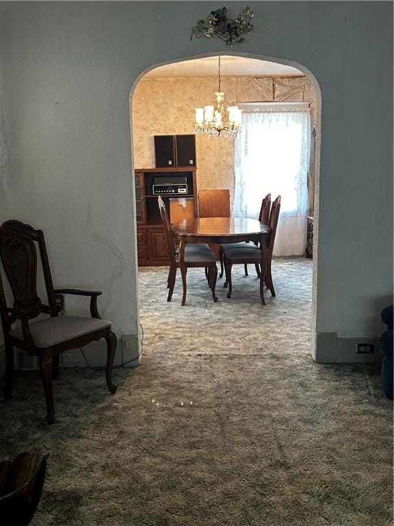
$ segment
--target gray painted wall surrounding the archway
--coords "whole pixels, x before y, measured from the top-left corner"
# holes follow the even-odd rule
[[[228,9],[236,16],[244,6]],[[303,64],[321,88],[317,332],[377,336],[392,290],[393,5],[250,6],[255,30],[235,51]],[[219,40],[189,40],[212,6],[1,8],[3,218],[42,227],[55,284],[100,288],[118,336],[137,334],[129,94],[153,64],[224,51]]]

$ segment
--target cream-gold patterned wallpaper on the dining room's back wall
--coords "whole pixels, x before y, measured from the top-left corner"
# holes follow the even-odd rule
[[[142,79],[131,100],[135,168],[155,166],[153,136],[194,133],[194,110],[213,101],[217,77]],[[311,124],[317,101],[306,77],[224,77],[225,101],[308,101]],[[234,198],[234,140],[196,136],[198,188],[229,188]],[[313,181],[311,181],[311,184]]]

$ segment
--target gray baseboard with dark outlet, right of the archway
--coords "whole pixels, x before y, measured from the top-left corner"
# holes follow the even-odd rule
[[[373,353],[356,353],[358,343],[373,344]],[[317,332],[315,361],[322,364],[381,362],[380,338],[338,338],[336,332]]]

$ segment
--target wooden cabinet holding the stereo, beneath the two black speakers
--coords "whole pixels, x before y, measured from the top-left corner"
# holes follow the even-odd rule
[[[159,266],[170,264],[166,235],[157,204],[157,195],[153,193],[153,184],[157,180],[173,182],[187,181],[187,194],[160,193],[170,221],[179,221],[181,213],[185,216],[197,216],[196,168],[141,168],[135,170],[135,214],[137,219],[137,253],[140,266]],[[173,186],[172,186],[173,188]],[[177,200],[179,202],[177,202]],[[182,208],[182,210],[180,210]],[[172,217],[172,216],[173,217]]]

